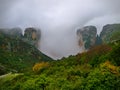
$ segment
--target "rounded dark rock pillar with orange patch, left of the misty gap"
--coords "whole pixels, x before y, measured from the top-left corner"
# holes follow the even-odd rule
[[[24,32],[24,41],[34,45],[35,47],[39,46],[39,40],[41,38],[41,32],[36,28],[26,28]]]

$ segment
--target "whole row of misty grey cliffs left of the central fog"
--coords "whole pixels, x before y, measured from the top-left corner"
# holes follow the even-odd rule
[[[40,29],[36,28],[26,28],[24,35],[22,34],[21,28],[12,28],[12,29],[0,29],[0,33],[4,33],[5,35],[11,38],[19,38],[24,42],[39,47],[39,41],[41,38]]]

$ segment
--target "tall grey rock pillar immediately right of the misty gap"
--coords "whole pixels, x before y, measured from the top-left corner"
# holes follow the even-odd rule
[[[84,46],[85,49],[95,45],[97,29],[95,26],[86,26],[77,30],[77,36],[79,37],[79,46]]]

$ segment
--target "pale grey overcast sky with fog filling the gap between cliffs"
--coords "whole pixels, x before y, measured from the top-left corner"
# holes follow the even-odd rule
[[[76,29],[120,23],[120,0],[0,0],[0,27],[39,27],[40,50],[53,58],[81,51]]]

